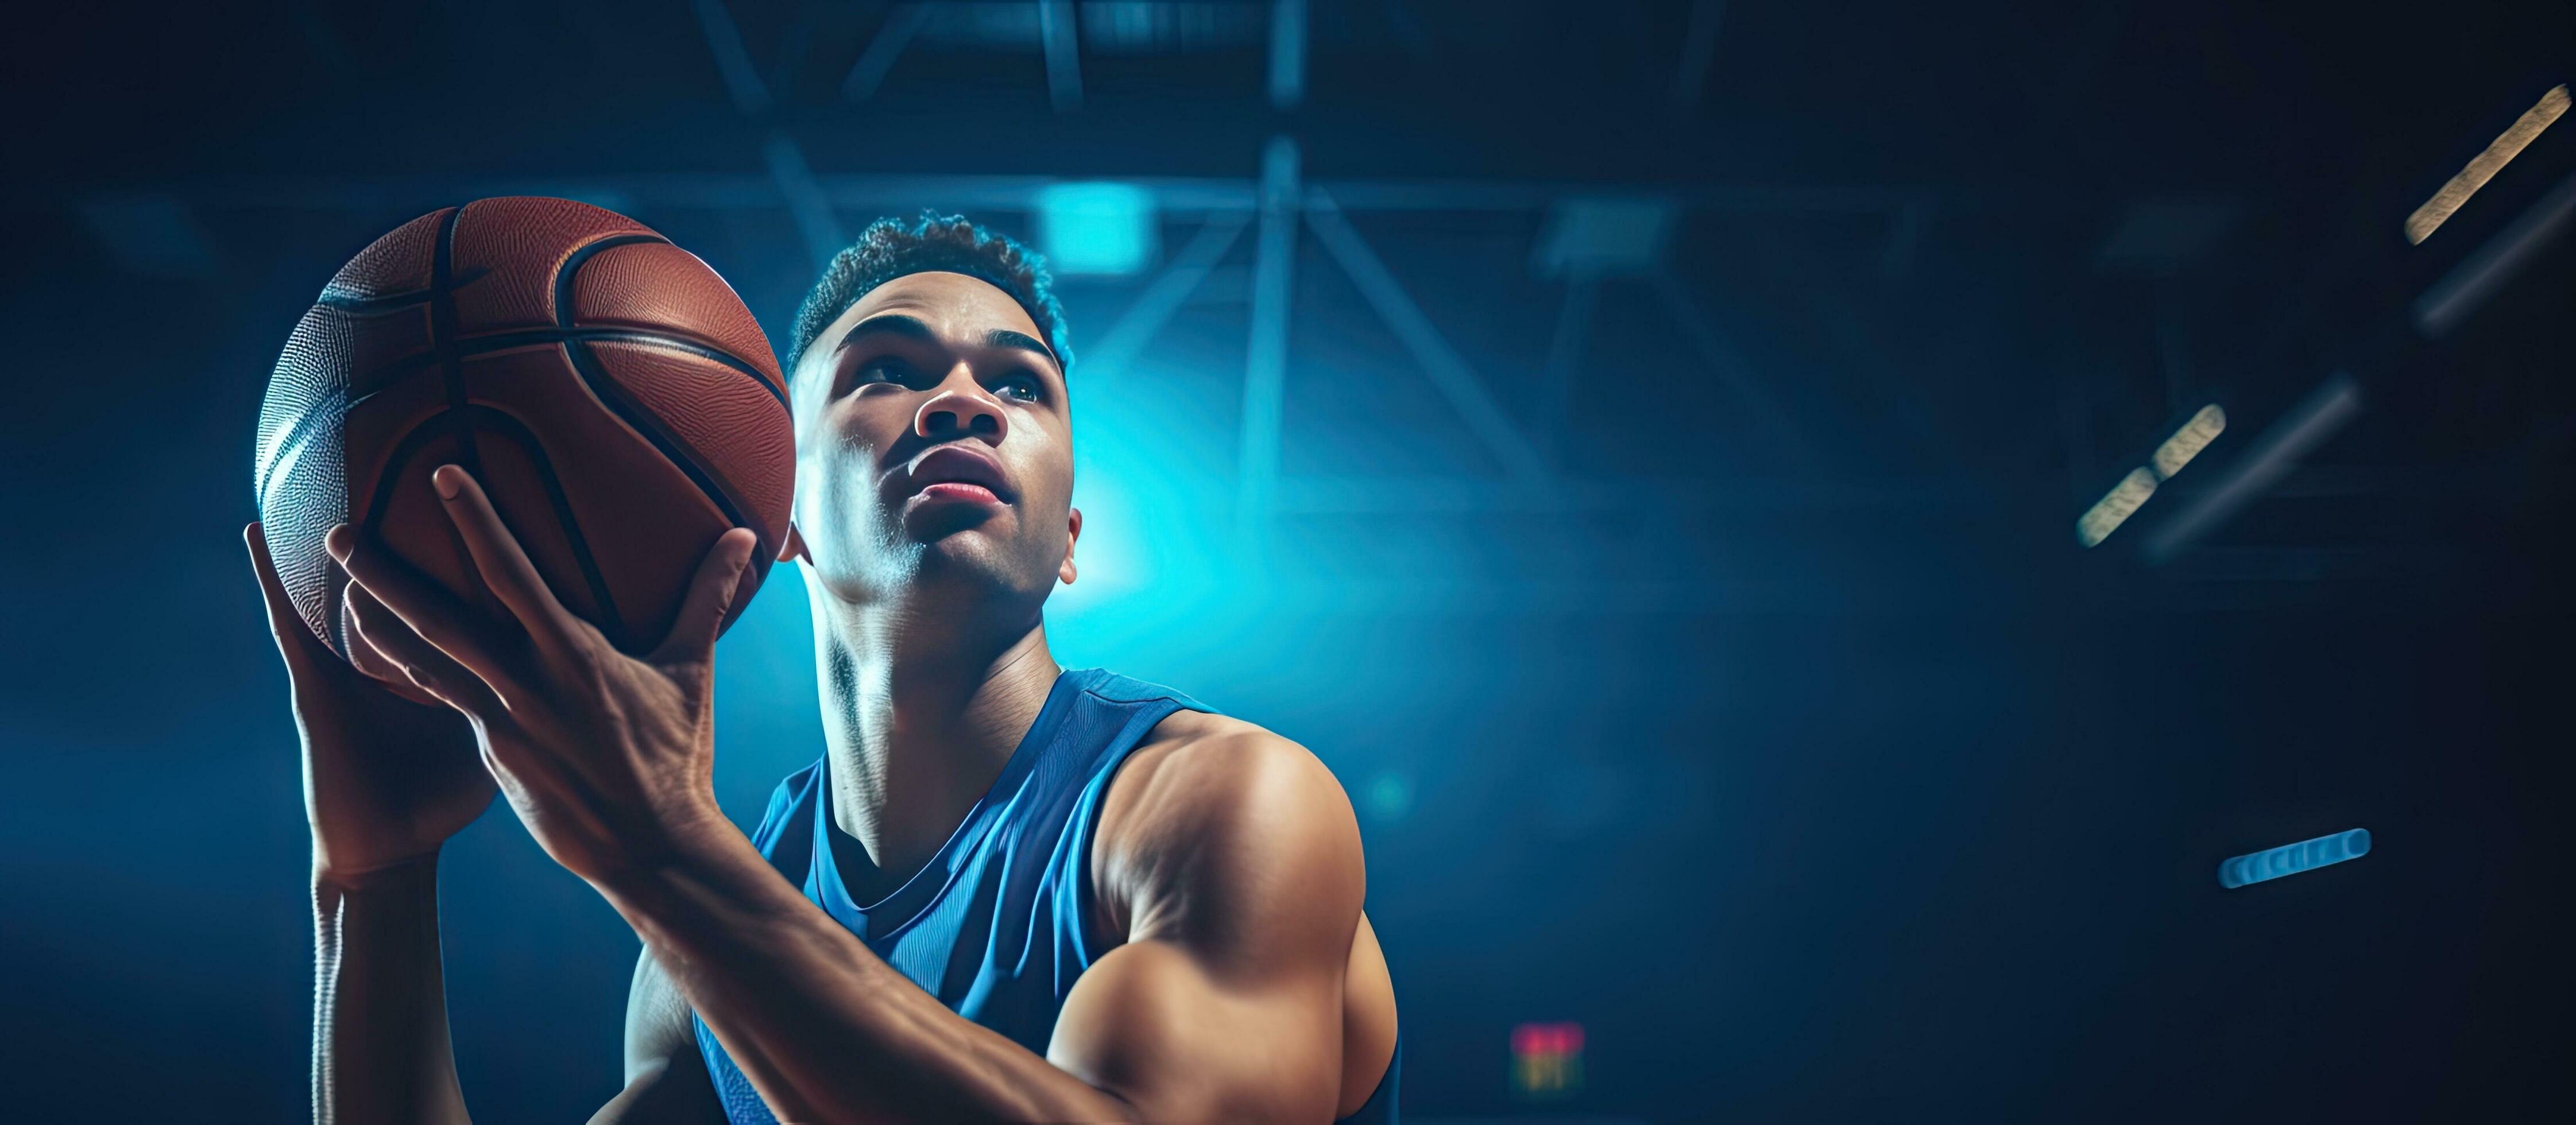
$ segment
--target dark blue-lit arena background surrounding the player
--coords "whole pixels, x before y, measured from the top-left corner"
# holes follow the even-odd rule
[[[866,219],[1036,237],[1054,180],[1159,203],[1141,273],[1064,283],[1059,656],[1342,775],[1414,1120],[2576,1115],[2568,239],[2439,340],[2409,319],[2576,124],[2401,234],[2576,75],[2576,8],[1314,0],[1293,103],[1255,3],[10,23],[0,1117],[307,1112],[294,731],[237,533],[337,263],[577,196],[775,335]],[[1188,247],[1273,136],[1437,340],[1309,224],[1265,469],[1255,234]],[[1564,268],[1587,198],[1669,221]],[[2339,371],[2349,425],[2148,548]],[[2081,548],[2208,402],[2218,443]],[[819,752],[801,597],[724,644],[739,819]],[[2215,880],[2354,826],[2357,862]],[[443,878],[469,1102],[580,1120],[634,937],[500,808]],[[1579,1092],[1515,1094],[1520,1022],[1584,1025]]]

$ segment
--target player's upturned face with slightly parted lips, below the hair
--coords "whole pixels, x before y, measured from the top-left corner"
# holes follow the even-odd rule
[[[796,363],[796,541],[850,602],[917,584],[1043,600],[1074,579],[1064,368],[963,273],[868,291]]]

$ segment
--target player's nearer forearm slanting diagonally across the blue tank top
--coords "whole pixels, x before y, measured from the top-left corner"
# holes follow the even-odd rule
[[[781,1120],[1131,1115],[1126,1102],[917,989],[739,834],[600,891]]]

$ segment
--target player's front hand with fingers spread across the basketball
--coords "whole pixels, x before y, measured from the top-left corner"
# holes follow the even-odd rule
[[[355,579],[358,633],[474,721],[484,767],[546,855],[603,883],[729,829],[711,785],[714,654],[757,535],[716,541],[670,636],[636,659],[554,600],[471,474],[438,466],[433,484],[507,618],[348,525],[325,543]]]

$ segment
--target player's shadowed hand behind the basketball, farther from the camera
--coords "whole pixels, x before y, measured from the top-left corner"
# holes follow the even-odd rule
[[[260,525],[245,528],[242,541],[304,736],[314,878],[350,886],[438,855],[497,793],[471,723],[453,708],[394,695],[330,651],[286,600]],[[353,636],[350,644],[366,641]]]

